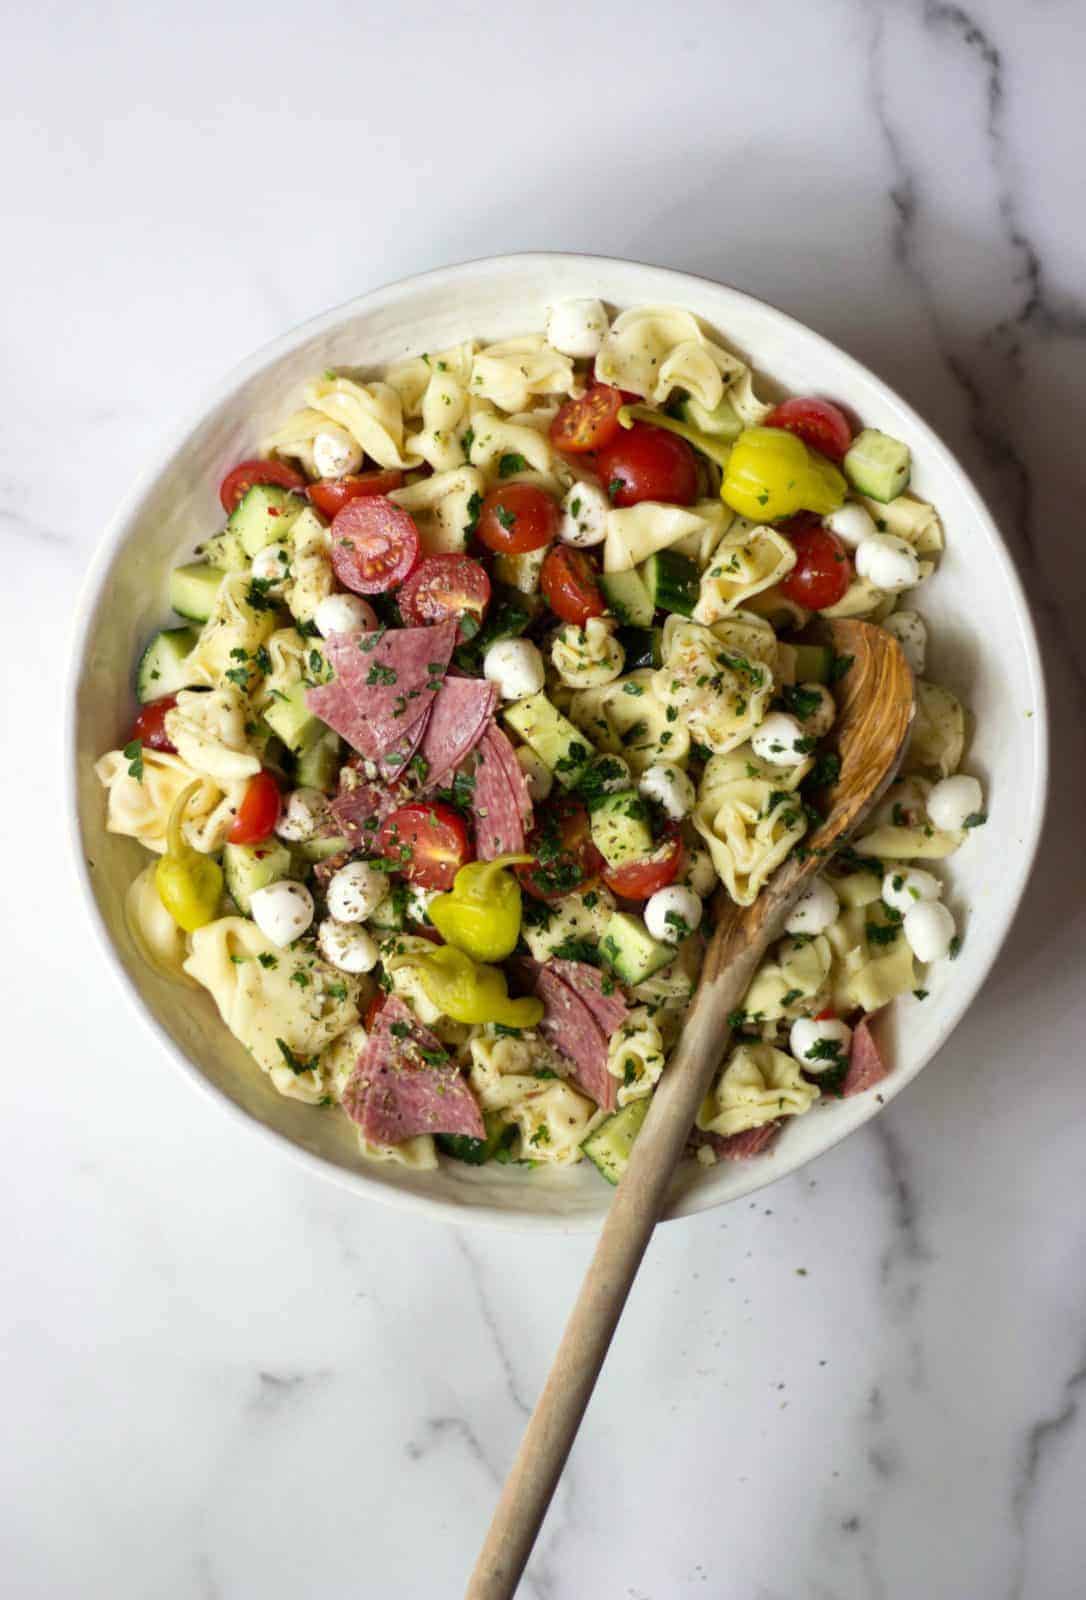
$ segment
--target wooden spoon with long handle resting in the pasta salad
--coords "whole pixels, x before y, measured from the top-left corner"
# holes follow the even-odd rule
[[[728,1016],[745,995],[768,946],[784,933],[800,891],[897,771],[913,715],[912,674],[900,646],[868,622],[833,622],[830,632],[835,651],[851,656],[852,666],[838,694],[835,728],[841,774],[830,794],[828,821],[805,840],[808,853],[784,862],[753,906],[726,902],[681,1038],[611,1202],[592,1266],[505,1480],[465,1600],[510,1600],[515,1594],[641,1256],[667,1202],[697,1107],[728,1048]]]

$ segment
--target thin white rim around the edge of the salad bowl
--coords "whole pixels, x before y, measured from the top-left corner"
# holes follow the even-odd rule
[[[371,1179],[371,1176],[363,1170],[347,1170],[337,1166],[334,1162],[326,1160],[313,1150],[307,1150],[296,1144],[286,1133],[280,1133],[277,1128],[270,1128],[267,1123],[261,1122],[258,1117],[251,1115],[240,1104],[230,1099],[218,1085],[214,1085],[200,1067],[186,1054],[186,1051],[173,1040],[165,1026],[155,1018],[150,1006],[144,1002],[138,986],[133,982],[126,973],[114,939],[110,936],[109,926],[98,904],[94,888],[91,883],[86,854],[83,848],[83,835],[80,829],[80,811],[78,811],[78,763],[77,763],[77,704],[78,704],[78,688],[83,672],[83,662],[91,643],[91,622],[98,602],[101,598],[104,578],[114,563],[114,558],[128,536],[131,523],[136,520],[144,499],[154,490],[154,485],[168,469],[170,462],[178,456],[181,450],[187,445],[192,434],[202,426],[210,411],[224,402],[234,390],[240,389],[250,378],[256,376],[262,368],[288,355],[291,350],[305,344],[309,339],[315,338],[321,331],[334,328],[337,323],[347,320],[349,317],[360,315],[366,310],[374,310],[382,304],[392,301],[409,298],[422,286],[435,286],[441,282],[456,283],[459,278],[475,275],[478,272],[491,270],[501,272],[509,266],[529,267],[533,264],[545,267],[561,267],[563,264],[576,264],[581,267],[590,266],[598,267],[601,274],[608,270],[619,270],[625,267],[638,267],[653,272],[661,278],[670,278],[675,285],[675,293],[680,296],[686,288],[705,285],[713,290],[726,290],[729,294],[737,296],[755,306],[758,310],[769,314],[777,320],[777,325],[785,328],[793,328],[806,341],[816,341],[825,347],[832,357],[843,363],[849,376],[872,384],[875,389],[881,390],[888,400],[891,400],[910,421],[910,424],[924,435],[926,450],[932,456],[942,456],[944,467],[947,467],[960,482],[961,491],[969,502],[971,512],[985,525],[988,533],[992,549],[1001,565],[1001,576],[1008,584],[1011,597],[1016,608],[1016,624],[1022,637],[1022,646],[1028,664],[1028,694],[1033,709],[1033,739],[1036,749],[1036,768],[1033,773],[1033,797],[1028,810],[1028,834],[1024,838],[1016,858],[1019,862],[1019,878],[1014,886],[1012,901],[1009,912],[1004,920],[1004,926],[1000,931],[990,954],[988,960],[980,971],[974,976],[969,984],[964,984],[961,992],[953,990],[953,1000],[947,1000],[944,1011],[940,1013],[940,1026],[936,1042],[931,1050],[920,1062],[920,1066],[902,1080],[897,1086],[892,1083],[892,1075],[888,1078],[884,1093],[881,1099],[872,1099],[868,1107],[864,1107],[864,1115],[851,1122],[833,1133],[832,1138],[825,1139],[820,1147],[813,1154],[797,1155],[792,1160],[782,1162],[779,1166],[773,1166],[771,1171],[765,1171],[761,1163],[750,1163],[744,1168],[744,1178],[741,1178],[728,1195],[710,1197],[707,1186],[693,1186],[688,1189],[675,1206],[664,1213],[661,1221],[678,1221],[681,1218],[696,1216],[702,1211],[712,1211],[717,1206],[728,1205],[734,1200],[741,1200],[745,1195],[755,1194],[790,1173],[798,1171],[809,1162],[817,1160],[828,1150],[835,1149],[843,1139],[849,1138],[859,1128],[862,1128],[872,1117],[889,1106],[899,1093],[902,1093],[908,1083],[912,1083],[920,1072],[924,1070],[936,1058],[936,1054],[944,1048],[952,1032],[972,1005],[984,984],[992,974],[995,962],[1006,944],[1011,928],[1017,918],[1022,906],[1022,898],[1025,894],[1025,886],[1030,882],[1032,866],[1040,846],[1041,830],[1044,826],[1044,816],[1048,808],[1048,789],[1049,789],[1049,709],[1048,709],[1048,688],[1044,680],[1044,666],[1041,651],[1036,640],[1036,629],[1033,622],[1033,610],[1019,578],[1017,568],[1011,557],[1011,552],[1000,533],[1000,526],[992,515],[984,496],[977,490],[976,483],[961,466],[955,453],[947,446],[942,437],[924,421],[923,416],[897,394],[883,378],[873,373],[868,366],[859,362],[841,346],[835,344],[832,339],[820,334],[817,330],[809,328],[806,323],[792,317],[789,312],[781,310],[771,301],[765,301],[757,294],[750,294],[747,290],[737,288],[733,283],[725,283],[720,278],[710,278],[705,274],[683,272],[675,267],[662,267],[654,262],[635,261],[627,256],[598,256],[590,251],[547,251],[547,250],[526,250],[526,251],[510,251],[499,256],[478,256],[469,261],[451,262],[448,266],[433,267],[425,272],[416,272],[409,277],[395,278],[368,290],[363,294],[357,294],[352,299],[342,301],[313,317],[296,323],[286,333],[259,346],[243,360],[237,362],[229,371],[226,371],[214,384],[208,384],[197,403],[189,408],[184,418],[173,426],[168,426],[162,443],[152,451],[150,459],[144,469],[136,475],[131,488],[122,498],[117,510],[109,518],[91,557],[91,562],[83,576],[78,597],[75,602],[72,634],[70,634],[70,654],[67,672],[64,675],[64,720],[62,720],[62,750],[64,750],[64,803],[67,813],[67,838],[70,843],[70,862],[78,883],[78,898],[88,915],[88,920],[94,930],[96,942],[106,958],[106,965],[120,984],[130,1006],[136,1011],[144,1027],[150,1030],[157,1045],[166,1051],[174,1066],[181,1070],[182,1077],[205,1096],[208,1096],[214,1104],[226,1110],[240,1126],[248,1128],[251,1133],[262,1136],[273,1147],[285,1152],[294,1162],[299,1162],[309,1171],[320,1174],[325,1181],[339,1184],[349,1189],[352,1194],[363,1195],[381,1205],[389,1205],[397,1210],[413,1211],[414,1214],[427,1216],[437,1221],[453,1222],[457,1226],[473,1226],[473,1227],[497,1227],[510,1232],[560,1232],[560,1234],[585,1234],[595,1232],[601,1227],[608,1208],[603,1206],[598,1214],[593,1216],[568,1216],[563,1218],[547,1210],[529,1211],[529,1210],[509,1210],[504,1211],[493,1205],[480,1206],[464,1206],[454,1200],[443,1200],[430,1195],[419,1194],[408,1187],[393,1187],[387,1184],[379,1184]],[[705,1198],[699,1202],[699,1194]]]

